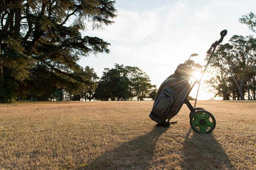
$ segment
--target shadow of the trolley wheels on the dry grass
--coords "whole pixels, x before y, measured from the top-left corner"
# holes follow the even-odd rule
[[[190,129],[186,134],[183,154],[183,169],[234,169],[213,133],[199,134]]]

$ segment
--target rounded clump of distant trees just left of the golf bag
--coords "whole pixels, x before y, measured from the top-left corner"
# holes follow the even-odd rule
[[[137,67],[115,64],[115,68],[105,68],[96,89],[99,100],[143,100],[154,90],[148,75]]]

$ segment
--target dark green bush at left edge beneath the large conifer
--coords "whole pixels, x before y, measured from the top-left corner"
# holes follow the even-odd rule
[[[18,83],[12,81],[11,79],[7,79],[4,82],[4,88],[0,89],[0,103],[11,103],[15,102],[18,98]]]

